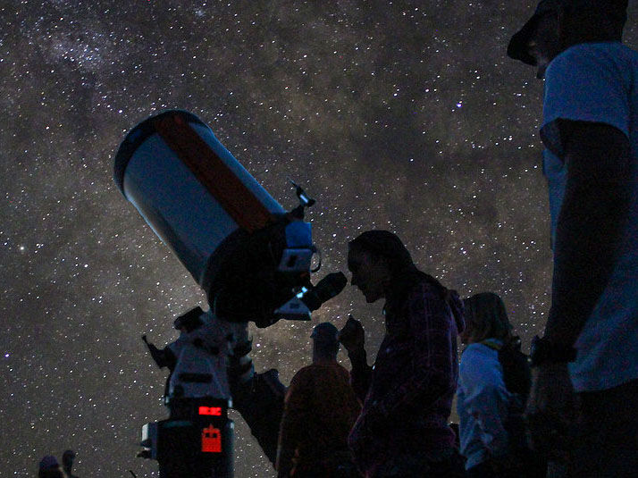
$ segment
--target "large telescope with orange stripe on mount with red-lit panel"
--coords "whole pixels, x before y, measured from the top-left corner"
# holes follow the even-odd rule
[[[248,322],[264,328],[310,320],[345,287],[343,273],[311,281],[321,263],[311,269],[318,251],[304,214],[315,199],[293,182],[299,204],[285,211],[205,122],[181,110],[130,130],[114,158],[114,180],[209,306],[180,315],[180,337],[164,349],[147,342],[157,365],[171,371],[164,393],[170,416],[144,426],[140,456],[157,460],[162,478],[232,477],[227,410],[236,398],[273,461],[285,388],[273,373],[255,373]],[[272,405],[273,420],[264,420],[257,402]]]

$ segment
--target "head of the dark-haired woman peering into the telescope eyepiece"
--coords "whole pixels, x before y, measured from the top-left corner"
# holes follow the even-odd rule
[[[401,239],[389,231],[365,231],[348,243],[350,282],[366,302],[386,297],[392,279],[415,268]]]

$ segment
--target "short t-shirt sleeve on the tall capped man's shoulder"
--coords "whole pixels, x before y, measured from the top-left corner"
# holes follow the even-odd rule
[[[579,45],[558,55],[545,75],[541,138],[562,159],[558,120],[608,124],[629,136],[629,89],[616,56],[601,45]]]

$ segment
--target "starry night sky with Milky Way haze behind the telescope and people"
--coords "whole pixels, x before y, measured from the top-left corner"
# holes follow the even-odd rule
[[[207,306],[113,183],[113,155],[166,108],[209,124],[284,208],[289,177],[315,197],[315,279],[346,272],[359,232],[394,231],[462,296],[501,294],[526,350],[550,306],[542,82],[505,50],[534,5],[2,0],[0,476],[64,449],[83,478],[157,475],[135,455],[167,415],[166,372],[140,336],[164,346],[178,314]],[[637,15],[630,1],[630,46]],[[381,308],[348,287],[313,323],[255,330],[256,369],[288,384],[313,324],[348,313],[372,359]],[[236,476],[272,477],[231,417]]]

